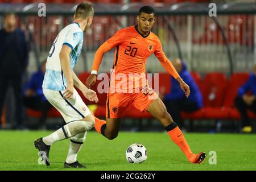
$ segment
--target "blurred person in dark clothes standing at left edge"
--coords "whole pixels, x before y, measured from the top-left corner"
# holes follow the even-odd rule
[[[13,87],[15,97],[14,128],[24,129],[22,112],[22,77],[27,67],[28,45],[24,33],[16,28],[16,16],[7,13],[4,27],[0,30],[0,118],[9,84]],[[1,122],[0,122],[1,123]]]

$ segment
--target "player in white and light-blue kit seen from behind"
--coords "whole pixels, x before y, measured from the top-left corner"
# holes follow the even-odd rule
[[[71,138],[66,168],[85,168],[77,161],[77,154],[85,141],[86,132],[94,126],[94,117],[73,87],[75,85],[89,100],[98,102],[96,92],[86,88],[72,71],[79,59],[84,40],[83,32],[92,24],[94,9],[91,3],[77,6],[74,23],[69,24],[57,35],[46,63],[43,93],[47,100],[61,113],[67,125],[47,137],[35,140],[39,158],[49,166],[49,149],[59,140]]]

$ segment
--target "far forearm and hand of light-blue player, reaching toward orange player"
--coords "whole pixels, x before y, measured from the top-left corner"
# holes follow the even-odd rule
[[[85,98],[87,98],[89,101],[92,102],[98,102],[98,97],[96,92],[94,92],[91,89],[88,89],[81,80],[76,76],[76,73],[72,71],[72,76],[73,76],[73,82],[74,85],[81,90],[82,94],[84,94]]]

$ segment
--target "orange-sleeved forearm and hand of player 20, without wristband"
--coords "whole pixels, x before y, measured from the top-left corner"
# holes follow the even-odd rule
[[[176,69],[174,68],[174,65],[172,65],[170,60],[168,60],[166,55],[163,54],[161,57],[158,57],[158,60],[160,61],[164,69],[166,69],[166,71],[170,73],[179,82],[180,88],[183,90],[185,96],[189,97],[189,86],[179,76],[179,73],[177,73]]]

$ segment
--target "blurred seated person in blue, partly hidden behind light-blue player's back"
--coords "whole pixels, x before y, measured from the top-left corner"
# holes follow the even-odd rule
[[[24,105],[27,108],[42,112],[39,119],[39,129],[44,129],[46,127],[45,122],[47,119],[47,113],[52,107],[43,94],[42,84],[44,80],[44,73],[46,73],[46,60],[41,63],[40,69],[32,74],[25,87],[23,97]]]

